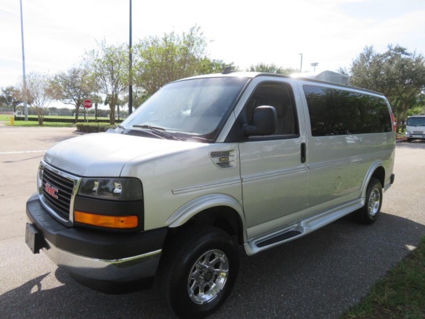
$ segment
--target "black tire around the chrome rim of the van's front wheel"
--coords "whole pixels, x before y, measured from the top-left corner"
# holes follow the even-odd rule
[[[223,288],[207,303],[197,304],[189,296],[189,275],[198,259],[205,253],[218,250],[227,257],[228,273]],[[214,258],[212,256],[211,258]],[[189,228],[170,241],[161,256],[154,288],[178,318],[203,318],[215,312],[226,301],[239,269],[239,250],[232,238],[218,228]],[[211,275],[204,273],[204,278]],[[212,275],[212,280],[218,276]],[[193,282],[193,281],[192,281]],[[195,288],[194,290],[196,291]],[[206,292],[208,288],[206,288]],[[199,290],[198,290],[199,294]]]

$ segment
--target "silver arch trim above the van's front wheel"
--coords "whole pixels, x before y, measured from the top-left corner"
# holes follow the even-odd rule
[[[190,202],[187,202],[186,204],[178,208],[178,210],[176,210],[170,216],[169,219],[167,219],[167,225],[170,228],[181,226],[196,214],[205,211],[208,208],[218,206],[227,206],[238,213],[242,226],[243,240],[244,242],[246,242],[247,239],[244,209],[242,208],[242,205],[240,202],[238,202],[238,200],[226,194],[204,195],[193,199]]]

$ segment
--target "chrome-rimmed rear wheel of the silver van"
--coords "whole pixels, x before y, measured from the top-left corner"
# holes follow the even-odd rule
[[[379,179],[372,177],[365,197],[365,205],[355,211],[357,220],[362,224],[372,224],[378,219],[382,205],[382,185]]]

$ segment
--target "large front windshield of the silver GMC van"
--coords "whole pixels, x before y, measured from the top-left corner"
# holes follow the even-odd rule
[[[163,128],[174,135],[213,139],[239,93],[243,77],[210,77],[165,85],[127,120],[124,128]]]

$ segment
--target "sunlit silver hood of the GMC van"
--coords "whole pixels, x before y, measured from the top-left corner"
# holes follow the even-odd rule
[[[57,143],[48,149],[45,162],[85,177],[115,177],[128,161],[161,151],[182,151],[201,146],[196,142],[180,142],[124,134],[93,133]]]

